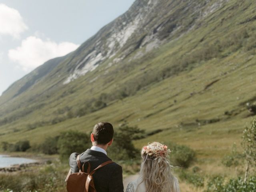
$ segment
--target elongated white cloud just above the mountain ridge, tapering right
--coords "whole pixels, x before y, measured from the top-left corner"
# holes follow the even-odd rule
[[[21,68],[28,72],[47,60],[59,56],[64,56],[78,48],[71,42],[57,44],[51,40],[43,41],[36,36],[29,36],[22,40],[21,46],[8,51],[8,57],[14,62],[18,62]]]

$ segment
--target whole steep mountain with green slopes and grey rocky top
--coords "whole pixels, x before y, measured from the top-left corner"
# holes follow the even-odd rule
[[[0,96],[0,140],[127,122],[150,135],[138,146],[174,140],[222,156],[254,116],[255,26],[252,0],[136,0]]]

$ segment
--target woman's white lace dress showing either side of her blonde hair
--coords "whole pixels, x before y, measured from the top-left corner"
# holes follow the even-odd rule
[[[179,182],[176,177],[174,177],[174,186],[176,191],[180,192]],[[138,179],[130,182],[126,188],[126,192],[146,192],[146,186],[142,181],[142,177],[139,176]]]

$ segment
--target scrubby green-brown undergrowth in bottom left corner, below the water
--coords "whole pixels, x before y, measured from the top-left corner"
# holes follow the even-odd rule
[[[33,169],[18,174],[0,173],[0,191],[63,192],[66,190],[63,179],[66,177],[66,170],[60,162],[54,162],[54,165],[40,166],[36,171]]]

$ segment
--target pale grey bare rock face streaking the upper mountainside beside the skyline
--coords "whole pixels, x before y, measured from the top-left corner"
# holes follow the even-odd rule
[[[135,48],[140,48],[146,43],[152,41],[150,34],[146,34],[140,38],[144,33],[148,33],[148,25],[151,20],[151,14],[154,11],[157,1],[136,1],[132,7],[122,16],[116,18],[113,22],[104,26],[90,43],[85,42],[81,58],[73,65],[71,74],[63,82],[68,84],[70,81],[75,80],[81,75],[86,74],[88,71],[94,70],[104,60],[114,58],[109,66],[113,63],[118,63],[124,59]],[[137,39],[139,42],[128,45]]]

